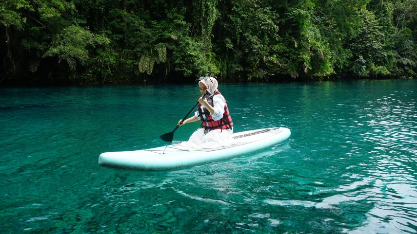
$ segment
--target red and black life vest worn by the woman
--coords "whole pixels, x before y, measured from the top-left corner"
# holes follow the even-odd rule
[[[216,91],[214,93],[214,95],[218,95],[221,93],[219,91]],[[214,96],[213,95],[213,96]],[[207,98],[207,102],[210,104],[210,106],[214,106],[213,105],[213,96],[210,96]],[[213,116],[210,114],[210,112],[208,111],[207,108],[201,108],[201,104],[198,105],[197,107],[198,111],[199,111],[199,117],[200,120],[202,121],[202,126],[205,129],[205,133],[209,132],[210,130],[214,130],[214,129],[232,129],[233,127],[233,122],[232,122],[232,117],[230,116],[229,113],[229,109],[227,108],[227,103],[226,103],[226,99],[224,100],[224,113],[223,113],[223,117],[219,120],[213,120]]]

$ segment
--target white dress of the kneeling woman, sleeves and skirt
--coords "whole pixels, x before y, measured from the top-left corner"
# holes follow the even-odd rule
[[[223,117],[224,105],[225,100],[222,95],[217,94],[213,96],[213,120],[220,120]],[[202,105],[201,108],[205,108],[205,106]],[[200,118],[198,111],[194,115]],[[204,128],[199,128],[191,135],[188,141],[181,142],[179,145],[199,149],[225,147],[234,144],[234,141],[230,138],[232,133],[233,129],[215,129],[204,134]]]

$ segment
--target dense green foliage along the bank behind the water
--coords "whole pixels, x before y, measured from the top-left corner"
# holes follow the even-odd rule
[[[2,0],[0,82],[415,77],[417,0]]]

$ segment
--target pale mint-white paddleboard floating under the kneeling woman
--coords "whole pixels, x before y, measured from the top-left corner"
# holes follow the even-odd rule
[[[258,151],[287,140],[286,127],[262,128],[233,133],[233,144],[226,147],[197,149],[171,144],[135,151],[106,152],[99,165],[134,170],[167,170],[212,162]]]

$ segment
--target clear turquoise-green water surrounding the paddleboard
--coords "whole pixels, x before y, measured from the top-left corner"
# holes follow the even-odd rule
[[[102,152],[165,144],[197,85],[1,89],[0,233],[417,232],[415,80],[219,90],[236,132],[290,139],[176,170],[103,168]]]

